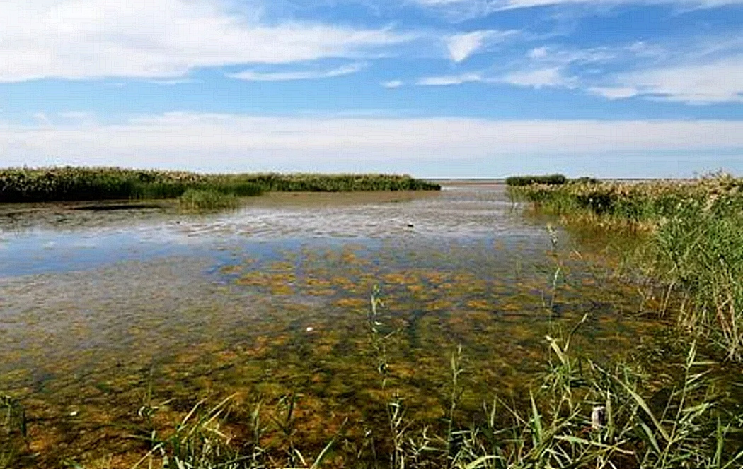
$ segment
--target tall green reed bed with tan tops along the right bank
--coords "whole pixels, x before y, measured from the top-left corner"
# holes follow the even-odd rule
[[[682,295],[678,324],[743,358],[743,180],[715,174],[646,183],[510,188],[568,223],[643,232],[636,266]],[[666,298],[667,299],[667,298]],[[667,301],[663,301],[667,304]]]

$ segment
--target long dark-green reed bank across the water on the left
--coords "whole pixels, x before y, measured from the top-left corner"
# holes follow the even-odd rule
[[[440,186],[388,174],[198,174],[125,168],[9,168],[0,170],[1,202],[163,199],[189,189],[236,197],[264,191],[415,191]]]

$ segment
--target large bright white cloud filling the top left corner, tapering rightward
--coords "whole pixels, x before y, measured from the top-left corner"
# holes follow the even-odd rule
[[[178,78],[200,67],[359,56],[409,39],[386,29],[260,24],[226,6],[224,0],[3,0],[0,82]]]

